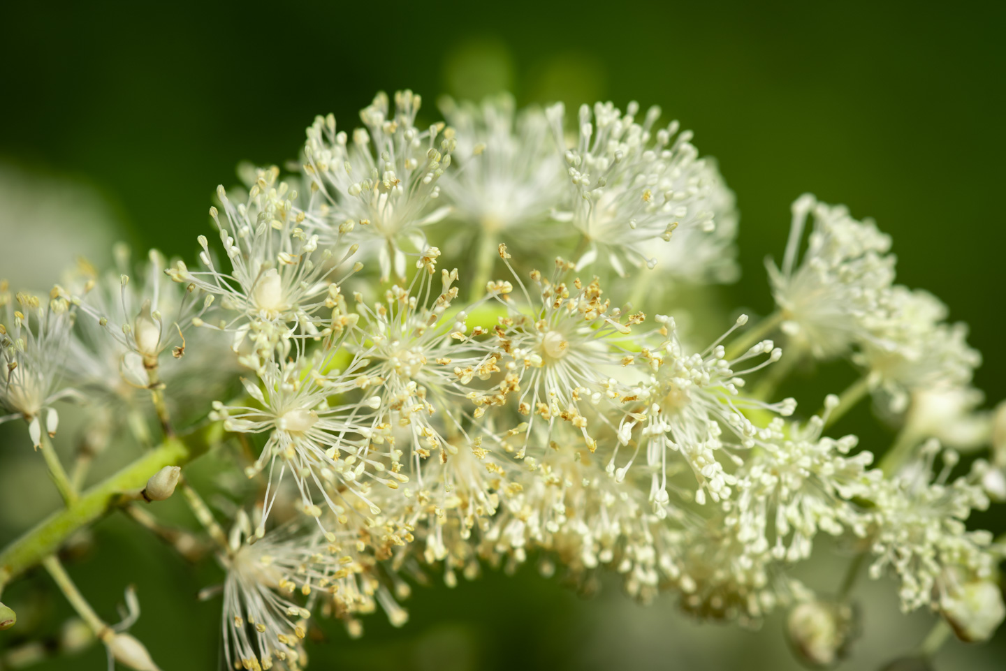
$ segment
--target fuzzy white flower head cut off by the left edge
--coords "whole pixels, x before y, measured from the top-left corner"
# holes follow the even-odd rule
[[[61,386],[60,372],[75,317],[58,286],[45,301],[24,293],[12,298],[0,282],[0,408],[10,412],[0,415],[0,424],[22,417],[35,447],[42,431],[55,435],[59,418],[52,403],[73,393]]]

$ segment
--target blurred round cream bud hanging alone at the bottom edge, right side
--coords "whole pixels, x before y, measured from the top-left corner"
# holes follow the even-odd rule
[[[845,656],[852,630],[853,612],[845,604],[804,602],[794,606],[786,620],[797,655],[816,668],[830,667]]]

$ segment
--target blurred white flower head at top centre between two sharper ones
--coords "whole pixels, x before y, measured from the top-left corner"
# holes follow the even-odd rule
[[[506,94],[481,105],[446,98],[440,107],[457,132],[458,169],[443,178],[454,216],[488,236],[543,223],[565,181],[544,114],[536,108],[515,114]]]

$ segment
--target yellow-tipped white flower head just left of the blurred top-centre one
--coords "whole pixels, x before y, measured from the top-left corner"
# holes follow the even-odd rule
[[[451,165],[455,148],[453,133],[444,124],[429,129],[415,127],[422,99],[410,91],[394,95],[394,114],[388,99],[379,93],[360,111],[366,129],[336,132],[335,117],[318,117],[308,128],[304,148],[304,173],[317,193],[312,207],[327,221],[330,236],[353,232],[370,241],[381,278],[404,277],[405,255],[401,246],[425,246],[423,226],[443,219],[450,208],[440,203],[438,180]],[[376,248],[374,249],[374,246]]]

